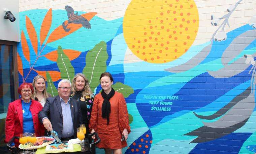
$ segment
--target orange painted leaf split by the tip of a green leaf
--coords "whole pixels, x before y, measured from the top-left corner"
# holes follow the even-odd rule
[[[68,56],[68,59],[70,61],[76,59],[81,54],[80,51],[71,50],[71,49],[64,49],[63,52],[65,55]],[[57,62],[57,58],[58,58],[57,50],[54,50],[44,56],[51,61]]]

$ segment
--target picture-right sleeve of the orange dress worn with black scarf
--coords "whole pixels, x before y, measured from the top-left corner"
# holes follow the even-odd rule
[[[130,134],[131,128],[129,126],[127,106],[124,96],[121,93],[118,99],[118,126],[121,133],[123,133],[124,129],[127,129],[128,134]]]

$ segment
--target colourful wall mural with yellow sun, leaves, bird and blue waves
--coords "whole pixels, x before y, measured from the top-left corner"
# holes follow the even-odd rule
[[[42,75],[55,96],[84,73],[97,94],[113,74],[132,131],[123,153],[255,153],[256,14],[232,26],[234,2],[207,15],[207,36],[196,0],[131,0],[113,20],[68,5],[20,12],[19,83]]]

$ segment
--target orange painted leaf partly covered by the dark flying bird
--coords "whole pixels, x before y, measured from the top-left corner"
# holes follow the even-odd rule
[[[96,12],[90,12],[90,13],[85,13],[85,14],[82,14],[81,16],[83,16],[84,18],[86,18],[88,21],[90,21],[97,13]],[[64,21],[64,22],[67,22]],[[51,42],[54,42],[56,40],[59,40],[69,34],[71,34],[72,32],[76,31],[77,29],[81,28],[82,27],[82,24],[75,24],[75,23],[70,23],[69,25],[69,32],[66,32],[62,25],[60,25],[59,27],[57,27],[56,29],[54,29],[54,31],[50,34],[47,42],[47,43],[51,43]]]

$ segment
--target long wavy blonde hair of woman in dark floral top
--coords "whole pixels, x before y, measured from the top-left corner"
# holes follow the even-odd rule
[[[90,96],[90,98],[91,98],[91,96],[93,95],[93,92],[92,92],[92,90],[91,90],[91,88],[89,86],[89,82],[88,82],[87,78],[82,73],[77,73],[75,75],[75,77],[73,78],[73,80],[72,80],[72,86],[71,86],[72,94],[71,94],[71,96],[75,95],[75,92],[76,92],[75,81],[76,81],[76,78],[78,76],[83,77],[84,80],[85,80],[85,87],[84,87],[84,90],[83,90],[83,93],[82,93],[82,97]]]

